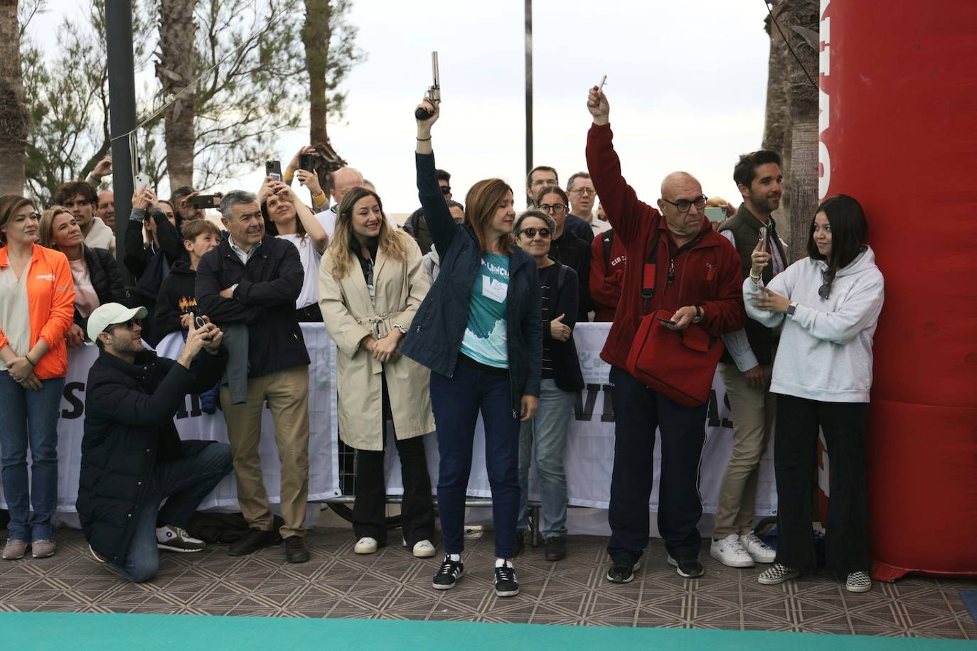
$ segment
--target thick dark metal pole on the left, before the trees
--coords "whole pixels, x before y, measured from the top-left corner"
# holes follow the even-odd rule
[[[108,127],[112,138],[112,192],[115,196],[115,260],[127,287],[132,274],[122,264],[125,231],[132,210],[132,156],[129,139],[118,138],[136,128],[136,80],[132,55],[132,2],[106,0],[106,55],[108,58]]]

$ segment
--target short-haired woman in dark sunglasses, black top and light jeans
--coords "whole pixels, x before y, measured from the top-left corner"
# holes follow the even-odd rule
[[[523,213],[513,228],[520,248],[536,261],[543,330],[539,409],[535,418],[524,421],[519,431],[522,502],[517,547],[529,533],[530,462],[535,457],[546,560],[561,560],[567,555],[567,473],[563,452],[573,415],[573,396],[583,388],[580,362],[573,345],[578,300],[576,272],[547,255],[555,230],[553,218],[538,210]]]

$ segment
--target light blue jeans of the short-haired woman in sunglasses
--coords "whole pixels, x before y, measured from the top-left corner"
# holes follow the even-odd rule
[[[567,472],[563,452],[567,447],[567,429],[573,415],[573,392],[556,386],[556,380],[543,380],[539,387],[539,410],[536,417],[519,430],[519,487],[522,501],[519,528],[530,527],[530,461],[535,452],[536,474],[542,497],[543,538],[567,535]]]

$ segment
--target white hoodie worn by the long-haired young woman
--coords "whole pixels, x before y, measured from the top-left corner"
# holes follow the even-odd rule
[[[763,294],[743,281],[746,314],[768,328],[784,324],[770,390],[824,402],[869,402],[871,337],[882,310],[882,272],[871,248],[839,269],[828,300],[818,296],[828,264],[805,258],[770,281],[775,294],[796,303],[793,316],[756,308]]]

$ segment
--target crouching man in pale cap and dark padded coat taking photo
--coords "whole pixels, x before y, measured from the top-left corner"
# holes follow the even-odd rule
[[[176,360],[157,357],[141,340],[146,314],[146,307],[106,303],[88,317],[101,352],[85,387],[76,503],[92,553],[134,582],[155,575],[159,549],[204,548],[185,527],[232,469],[230,445],[182,441],[173,425],[188,393],[220,380],[223,333],[212,323],[191,325]]]

